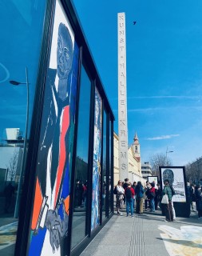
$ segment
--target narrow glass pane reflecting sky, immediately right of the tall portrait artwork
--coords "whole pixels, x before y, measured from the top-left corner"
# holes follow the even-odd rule
[[[85,238],[85,218],[88,189],[88,156],[89,156],[89,109],[91,82],[81,68],[81,89],[79,98],[78,130],[77,130],[77,158],[75,169],[75,185],[73,197],[72,244],[77,246]]]

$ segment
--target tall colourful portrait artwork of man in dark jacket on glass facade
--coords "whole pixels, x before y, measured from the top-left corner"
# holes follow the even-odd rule
[[[29,255],[61,255],[65,248],[78,53],[73,30],[57,1],[38,144]]]

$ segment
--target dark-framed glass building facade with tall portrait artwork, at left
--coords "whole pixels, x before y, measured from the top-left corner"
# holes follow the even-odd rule
[[[0,254],[78,255],[113,216],[113,112],[71,1],[0,14]]]

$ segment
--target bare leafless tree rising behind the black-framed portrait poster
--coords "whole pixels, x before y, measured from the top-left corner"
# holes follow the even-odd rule
[[[152,174],[159,176],[159,166],[172,166],[170,158],[166,158],[164,154],[153,154],[150,158],[150,164],[152,166]]]

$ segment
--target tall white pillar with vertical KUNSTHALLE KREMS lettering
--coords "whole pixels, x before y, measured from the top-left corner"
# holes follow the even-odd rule
[[[128,122],[126,91],[125,13],[118,13],[118,134],[119,178],[128,178]]]

